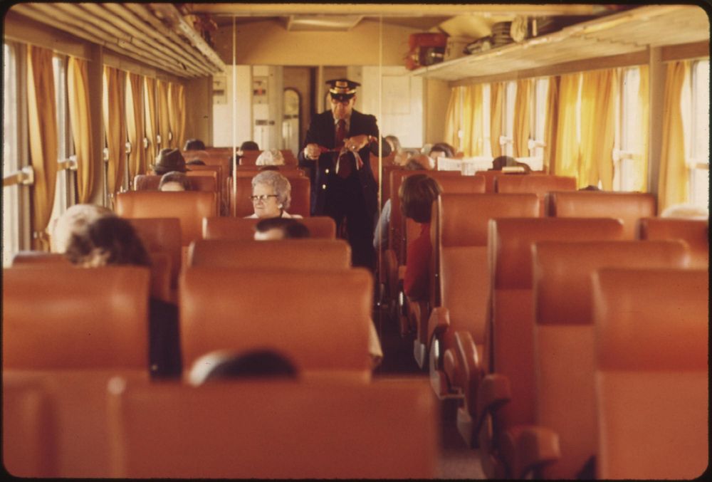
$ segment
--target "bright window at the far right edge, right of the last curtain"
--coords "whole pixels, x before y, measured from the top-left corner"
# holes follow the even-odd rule
[[[709,201],[709,116],[710,116],[710,63],[697,61],[691,66],[691,112],[689,132],[688,165],[690,167],[690,199],[699,206],[707,207]]]

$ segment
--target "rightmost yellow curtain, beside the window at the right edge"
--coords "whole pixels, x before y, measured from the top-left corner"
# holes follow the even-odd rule
[[[685,162],[685,140],[680,97],[689,75],[689,63],[671,62],[667,66],[663,97],[663,138],[660,152],[658,211],[687,201],[688,170]]]

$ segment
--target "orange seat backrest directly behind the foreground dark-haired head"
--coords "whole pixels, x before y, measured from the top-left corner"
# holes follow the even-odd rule
[[[179,297],[184,367],[214,350],[268,347],[287,355],[300,372],[367,378],[372,284],[370,273],[358,268],[184,271]]]

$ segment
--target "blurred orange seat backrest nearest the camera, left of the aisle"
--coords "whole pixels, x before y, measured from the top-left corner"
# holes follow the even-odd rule
[[[118,477],[435,476],[435,402],[412,380],[127,384],[110,396]]]

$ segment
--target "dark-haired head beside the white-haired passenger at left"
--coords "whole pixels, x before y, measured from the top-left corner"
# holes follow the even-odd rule
[[[83,233],[73,234],[66,255],[72,263],[87,266],[151,264],[132,224],[116,216],[96,219]]]

